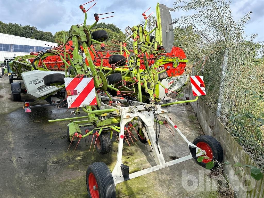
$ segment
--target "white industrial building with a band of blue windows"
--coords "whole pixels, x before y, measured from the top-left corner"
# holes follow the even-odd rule
[[[0,62],[4,58],[27,55],[32,51],[46,51],[51,48],[48,45],[58,46],[57,43],[0,33]]]

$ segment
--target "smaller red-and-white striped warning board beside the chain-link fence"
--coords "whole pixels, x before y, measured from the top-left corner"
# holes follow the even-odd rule
[[[202,76],[190,76],[194,96],[205,96],[205,84]]]

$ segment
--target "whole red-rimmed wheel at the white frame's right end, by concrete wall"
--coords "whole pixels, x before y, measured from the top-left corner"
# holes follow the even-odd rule
[[[209,157],[210,159],[203,159],[202,162],[197,162],[197,158],[198,157],[195,157],[195,161],[201,165],[202,167],[205,167],[206,164],[208,162],[211,162],[212,159],[215,160],[215,161],[218,161],[218,162],[222,162],[223,161],[223,149],[220,145],[220,143],[215,139],[213,138],[212,136],[210,135],[201,135],[197,138],[195,138],[195,140],[192,142],[194,145],[196,145],[197,147],[201,148],[202,150],[205,150],[206,152],[206,155],[204,156],[207,156]],[[196,152],[196,151],[194,151]],[[217,166],[217,163],[215,162],[214,163],[214,167]]]

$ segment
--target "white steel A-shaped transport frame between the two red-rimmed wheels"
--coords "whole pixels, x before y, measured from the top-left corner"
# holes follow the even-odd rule
[[[116,103],[118,103],[118,101]],[[196,145],[189,142],[187,138],[181,133],[181,131],[177,127],[176,128],[174,127],[175,124],[173,124],[171,119],[169,119],[167,110],[161,109],[160,105],[154,105],[154,104],[149,105],[145,103],[144,105],[147,107],[153,106],[155,108],[155,113],[163,117],[168,122],[169,126],[171,126],[171,128],[180,135],[180,137],[186,142],[188,147],[196,148],[196,157],[206,154],[204,150],[201,150],[200,148],[196,147]],[[105,106],[107,108],[108,105],[105,105]],[[133,106],[133,107],[132,106],[117,107],[117,109],[118,109],[117,111],[118,114],[121,116],[121,121],[120,121],[120,133],[119,133],[119,142],[118,142],[118,150],[117,150],[117,161],[116,161],[114,170],[112,171],[112,176],[113,176],[115,184],[125,181],[123,174],[122,174],[122,170],[121,170],[121,166],[123,164],[122,163],[122,150],[123,150],[123,142],[124,142],[124,128],[125,128],[125,124],[133,120],[135,117],[137,117],[139,127],[142,127],[142,123],[144,123],[145,125],[145,127],[142,127],[142,132],[144,133],[150,145],[150,148],[153,151],[153,158],[157,165],[150,167],[150,168],[146,168],[141,171],[131,173],[129,174],[129,179],[139,177],[147,173],[157,171],[159,169],[172,166],[174,164],[184,162],[186,160],[193,158],[190,152],[190,154],[185,157],[181,157],[181,158],[169,161],[169,162],[165,162],[161,148],[159,146],[159,143],[156,144],[156,134],[154,130],[153,111],[152,110],[147,111],[143,105],[138,105],[138,106]]]

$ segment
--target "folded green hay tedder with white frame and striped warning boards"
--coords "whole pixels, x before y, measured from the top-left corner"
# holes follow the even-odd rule
[[[148,17],[143,13],[145,25],[131,28],[132,34],[125,41],[120,42],[120,54],[110,55],[108,60],[110,67],[106,67],[103,66],[100,52],[91,47],[92,44],[99,45],[104,50],[106,46],[103,43],[107,39],[104,30],[91,32],[95,24],[102,19],[101,15],[94,14],[95,22],[87,26],[86,9],[83,5],[79,7],[85,15],[84,23],[71,26],[64,48],[65,45],[69,45],[68,41],[72,41],[72,45],[67,55],[65,51],[59,53],[60,60],[65,64],[65,75],[49,74],[44,77],[44,83],[47,86],[65,88],[68,107],[74,108],[72,114],[76,117],[49,120],[49,122],[70,121],[67,125],[67,139],[70,145],[76,140],[78,145],[81,139],[89,136],[91,142],[95,142],[93,148],[91,143],[90,150],[96,148],[98,153],[107,154],[111,150],[113,133],[119,133],[117,161],[112,172],[103,162],[95,162],[87,168],[86,183],[89,197],[115,197],[115,186],[120,182],[192,158],[197,159],[201,155],[207,156],[200,162],[202,166],[212,160],[221,162],[223,150],[217,140],[204,135],[196,138],[193,143],[189,142],[168,117],[168,111],[162,108],[178,103],[194,102],[197,101],[198,96],[205,95],[202,76],[190,77],[195,100],[159,103],[162,101],[159,89],[164,89],[166,95],[169,91],[168,87],[161,83],[161,78],[168,78],[168,75],[161,77],[160,74],[168,74],[169,69],[177,69],[180,63],[187,62],[185,58],[172,57],[168,54],[172,50],[174,40],[173,23],[169,12],[173,10],[157,3],[157,24],[150,32],[146,30]],[[154,38],[150,37],[152,32]],[[133,40],[131,50],[126,49],[126,42],[129,39]],[[161,54],[159,52],[161,48],[167,53]],[[121,55],[122,51],[125,51],[125,56]],[[100,66],[94,64],[91,54],[101,60]],[[151,63],[149,57],[152,57]],[[172,65],[168,66],[166,63]],[[78,116],[80,110],[87,115]],[[160,125],[167,126],[182,138],[190,150],[187,156],[165,162],[159,145]],[[80,126],[93,128],[86,129],[83,134]],[[128,142],[128,137],[131,140],[135,138],[133,133],[138,136],[140,142],[149,144],[156,166],[129,173],[129,166],[122,162],[122,148],[124,140]],[[215,163],[214,166],[216,165]]]

